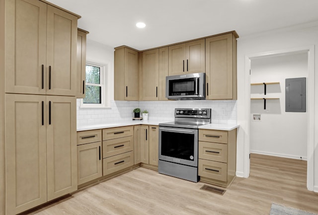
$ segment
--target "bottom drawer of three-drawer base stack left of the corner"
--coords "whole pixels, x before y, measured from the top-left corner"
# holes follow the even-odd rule
[[[118,154],[103,159],[103,175],[125,169],[134,165],[134,151]]]

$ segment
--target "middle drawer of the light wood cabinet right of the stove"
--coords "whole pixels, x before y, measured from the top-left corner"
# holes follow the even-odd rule
[[[228,144],[199,141],[199,158],[227,163]]]

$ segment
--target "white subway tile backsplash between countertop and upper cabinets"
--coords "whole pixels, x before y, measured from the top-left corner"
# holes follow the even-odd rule
[[[237,123],[236,100],[110,101],[110,108],[80,108],[77,99],[77,124],[106,124],[132,120],[133,109],[149,112],[149,120],[173,121],[174,108],[211,108],[212,123]]]

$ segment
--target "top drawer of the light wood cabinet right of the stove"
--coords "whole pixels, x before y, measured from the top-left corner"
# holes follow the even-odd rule
[[[228,132],[199,129],[199,141],[214,142],[214,143],[228,143]]]

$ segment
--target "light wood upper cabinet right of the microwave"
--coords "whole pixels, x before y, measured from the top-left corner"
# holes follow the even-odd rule
[[[206,99],[237,99],[236,32],[207,38]]]

